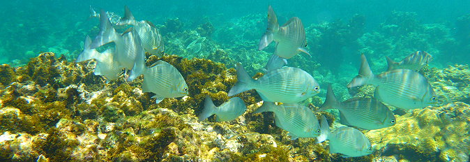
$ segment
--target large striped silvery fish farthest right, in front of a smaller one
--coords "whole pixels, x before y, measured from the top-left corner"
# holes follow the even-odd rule
[[[347,84],[348,88],[364,84],[374,85],[374,98],[404,110],[425,108],[437,103],[437,94],[427,79],[420,73],[397,68],[374,75],[365,55],[361,55],[361,69]]]

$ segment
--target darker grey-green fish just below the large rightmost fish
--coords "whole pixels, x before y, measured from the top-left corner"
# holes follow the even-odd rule
[[[393,112],[384,103],[375,98],[350,98],[339,102],[330,85],[319,111],[332,108],[340,110],[340,123],[347,126],[372,130],[396,124]]]

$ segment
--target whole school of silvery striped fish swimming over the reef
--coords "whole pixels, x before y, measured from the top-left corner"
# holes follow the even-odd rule
[[[121,76],[132,82],[143,75],[142,91],[154,94],[156,103],[165,98],[188,96],[188,84],[171,64],[157,61],[146,66],[145,52],[162,57],[165,47],[158,29],[149,21],[137,21],[125,6],[125,16],[100,10],[96,13],[90,7],[91,17],[100,19],[100,31],[93,40],[86,36],[84,50],[76,62],[94,59],[95,75],[103,75],[107,82],[117,80]],[[116,29],[126,29],[119,33]],[[200,42],[195,40],[188,49],[200,50]],[[236,64],[237,82],[229,90],[228,96],[241,94],[243,91],[255,89],[263,105],[253,113],[273,112],[275,125],[289,131],[292,140],[297,138],[316,138],[317,142],[329,140],[329,152],[338,153],[343,157],[366,156],[372,154],[373,148],[360,129],[372,130],[386,128],[396,124],[395,116],[387,105],[403,110],[425,108],[437,103],[437,94],[420,68],[432,61],[431,54],[417,51],[400,62],[386,57],[388,70],[374,75],[364,54],[361,55],[361,67],[358,75],[347,84],[348,89],[372,84],[375,87],[373,98],[350,98],[338,101],[331,85],[326,93],[326,100],[317,111],[338,109],[340,124],[344,125],[330,130],[326,117],[321,115],[320,122],[317,112],[301,104],[312,96],[319,94],[320,86],[312,75],[301,68],[287,67],[287,59],[300,52],[310,55],[305,50],[307,40],[301,19],[291,17],[282,26],[271,6],[268,6],[268,26],[259,40],[258,50],[263,50],[275,41],[275,51],[264,68],[266,72],[261,78],[254,80],[241,63]],[[114,43],[104,52],[98,47]],[[198,50],[199,49],[199,50]],[[233,97],[222,105],[214,105],[212,98],[206,96],[204,108],[198,115],[198,121],[204,121],[215,115],[215,121],[231,121],[243,115],[246,105],[241,98]],[[351,127],[351,126],[354,126]]]

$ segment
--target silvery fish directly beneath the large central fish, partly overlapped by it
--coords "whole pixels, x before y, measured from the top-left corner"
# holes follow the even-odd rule
[[[272,102],[263,102],[263,105],[253,113],[260,112],[274,112],[275,125],[289,131],[291,140],[316,138],[320,135],[317,117],[304,105],[298,103],[275,105]]]

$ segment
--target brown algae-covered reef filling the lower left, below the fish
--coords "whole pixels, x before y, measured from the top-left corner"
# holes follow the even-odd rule
[[[25,67],[8,67],[16,73],[0,76],[12,82],[0,91],[0,159],[34,161],[40,155],[50,161],[339,158],[325,154],[313,139],[291,141],[286,131],[274,126],[272,115],[247,113],[225,123],[197,122],[205,95],[215,104],[227,101],[226,91],[236,82],[236,71],[207,59],[147,56],[147,64],[162,59],[178,68],[193,85],[190,95],[155,104],[151,94],[137,88],[142,78],[105,84],[103,78],[92,75],[89,65],[93,61],[75,64],[53,53],[40,54]],[[55,70],[44,70],[50,68]],[[248,105],[248,112],[261,105],[255,91],[238,96]]]

